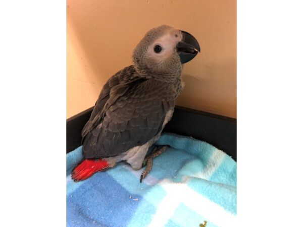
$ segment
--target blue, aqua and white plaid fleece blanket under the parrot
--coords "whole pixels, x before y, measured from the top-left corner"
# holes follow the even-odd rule
[[[67,226],[235,226],[236,162],[189,137],[163,134],[156,145],[170,147],[142,183],[144,168],[123,162],[75,183],[82,147],[68,153]]]

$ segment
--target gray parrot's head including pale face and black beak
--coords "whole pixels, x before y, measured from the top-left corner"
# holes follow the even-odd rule
[[[200,51],[197,40],[188,32],[168,25],[149,30],[133,52],[140,74],[180,75],[182,64]]]

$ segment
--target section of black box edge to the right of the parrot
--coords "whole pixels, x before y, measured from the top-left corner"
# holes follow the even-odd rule
[[[177,106],[163,132],[191,136],[237,159],[236,119]]]

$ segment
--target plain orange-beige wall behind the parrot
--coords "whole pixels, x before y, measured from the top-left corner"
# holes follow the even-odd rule
[[[150,29],[191,33],[201,53],[183,70],[177,104],[236,118],[236,0],[67,0],[67,118],[93,106]]]

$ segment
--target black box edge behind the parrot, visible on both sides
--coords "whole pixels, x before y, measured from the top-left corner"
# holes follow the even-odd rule
[[[67,119],[67,153],[81,145],[81,131],[93,107]],[[208,142],[237,160],[236,119],[176,106],[163,132],[170,132]]]

